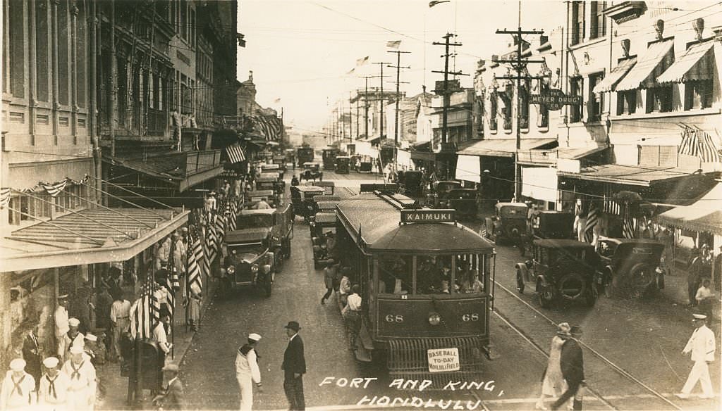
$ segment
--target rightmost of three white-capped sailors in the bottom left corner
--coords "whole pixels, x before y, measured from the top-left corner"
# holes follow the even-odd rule
[[[70,359],[65,361],[62,371],[70,377],[68,387],[69,410],[92,410],[95,405],[95,367],[90,363],[82,345],[70,348]]]

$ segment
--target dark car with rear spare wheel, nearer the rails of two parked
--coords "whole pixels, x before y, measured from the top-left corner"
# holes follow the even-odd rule
[[[597,293],[594,273],[599,256],[594,246],[573,239],[536,239],[532,260],[516,265],[516,288],[524,292],[525,283],[534,281],[539,305],[581,301],[593,306]]]

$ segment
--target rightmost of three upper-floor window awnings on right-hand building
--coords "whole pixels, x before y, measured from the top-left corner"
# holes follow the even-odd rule
[[[714,44],[713,40],[709,40],[692,45],[679,60],[657,77],[657,82],[664,84],[712,79]]]

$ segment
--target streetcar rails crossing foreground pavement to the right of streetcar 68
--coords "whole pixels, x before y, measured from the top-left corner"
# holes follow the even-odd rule
[[[513,299],[515,299],[516,301],[518,301],[518,302],[520,302],[521,304],[523,304],[524,306],[526,306],[527,309],[529,309],[529,310],[531,310],[531,311],[534,311],[534,314],[536,314],[536,315],[538,315],[539,317],[547,320],[547,322],[549,322],[549,324],[552,324],[554,327],[556,327],[557,322],[554,322],[554,320],[552,320],[552,319],[549,318],[546,314],[544,314],[544,313],[542,313],[541,311],[539,311],[539,309],[536,309],[536,307],[531,306],[531,304],[529,304],[528,302],[526,302],[526,301],[524,301],[523,299],[521,299],[519,296],[516,295],[516,293],[514,293],[514,292],[511,291],[510,289],[506,288],[505,286],[503,286],[502,284],[500,284],[498,281],[495,281],[495,285],[498,286],[498,287],[500,287],[503,291],[506,291],[506,293],[508,293],[510,296],[512,296]],[[519,327],[517,327],[515,324],[513,324],[513,322],[511,322],[510,319],[508,319],[508,318],[506,318],[505,316],[503,316],[503,314],[500,314],[500,312],[497,311],[496,309],[495,309],[494,311],[492,311],[492,312],[493,312],[499,319],[501,319],[502,322],[504,322],[505,324],[507,324],[507,326],[510,327],[514,332],[516,332],[518,335],[520,335],[523,340],[525,340],[526,342],[528,342],[532,347],[534,347],[537,351],[539,351],[539,353],[541,353],[542,355],[544,355],[544,356],[547,357],[547,358],[549,357],[549,354],[547,353],[546,350],[544,350],[544,348],[541,348],[541,346],[540,346],[537,342],[534,342],[534,340],[532,340],[532,338],[529,337],[529,335],[526,335],[526,333],[523,332],[523,331],[522,331]],[[670,401],[669,399],[667,399],[663,394],[661,394],[660,392],[658,392],[658,391],[656,391],[655,389],[651,388],[651,387],[648,386],[647,384],[644,384],[643,381],[640,381],[639,379],[635,378],[635,376],[633,376],[632,374],[630,374],[630,373],[629,373],[628,371],[626,371],[624,368],[618,366],[616,363],[614,363],[614,362],[612,362],[611,360],[609,360],[609,358],[606,358],[606,356],[604,356],[603,354],[599,353],[599,351],[594,350],[593,348],[591,348],[591,347],[590,347],[588,344],[586,344],[585,342],[579,341],[579,345],[583,348],[583,350],[586,350],[588,353],[591,353],[591,354],[593,355],[593,358],[598,359],[599,361],[601,361],[602,363],[604,363],[607,367],[611,368],[614,372],[616,372],[616,373],[619,374],[620,376],[624,377],[624,378],[627,379],[628,381],[631,381],[632,384],[635,384],[636,386],[641,387],[645,392],[648,392],[649,394],[651,394],[651,397],[658,399],[658,401],[660,401],[660,402],[664,402],[664,404],[666,404],[668,407],[671,407],[671,409],[674,409],[674,410],[682,410],[682,407],[679,407],[679,405],[675,404],[674,402],[671,402],[671,401]],[[588,385],[586,386],[586,391],[587,391],[587,392],[590,392],[591,394],[593,394],[593,397],[596,397],[597,399],[599,399],[600,402],[602,402],[604,405],[606,405],[607,407],[609,407],[609,408],[612,409],[612,410],[620,410],[620,409],[623,409],[623,408],[618,407],[617,405],[614,405],[609,399],[606,399],[606,398],[604,397],[604,395],[601,394],[601,393],[599,392],[599,390],[594,389],[592,385],[593,385],[593,384],[591,384],[591,385],[588,384]],[[657,407],[657,408],[654,408],[654,409],[657,409],[657,410],[658,410],[658,409],[660,409],[660,408]]]

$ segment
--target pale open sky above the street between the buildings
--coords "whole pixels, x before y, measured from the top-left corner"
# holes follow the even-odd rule
[[[349,92],[362,89],[363,76],[369,87],[380,87],[380,65],[396,65],[396,54],[388,53],[389,41],[401,40],[401,92],[414,95],[422,85],[432,90],[442,74],[443,35],[453,41],[461,84],[471,87],[479,59],[503,54],[510,35],[497,29],[518,27],[519,1],[451,0],[429,7],[428,0],[238,0],[238,31],[245,35],[245,48],[238,48],[238,79],[253,71],[256,101],[264,107],[284,111],[284,123],[297,131],[321,131],[329,123],[339,100],[348,107]],[[565,19],[563,1],[521,2],[523,30],[560,27]],[[526,38],[526,37],[525,37]],[[369,63],[357,67],[357,59]],[[354,69],[352,74],[349,71]],[[396,69],[383,69],[384,90],[394,89]],[[279,102],[277,102],[277,100]]]

